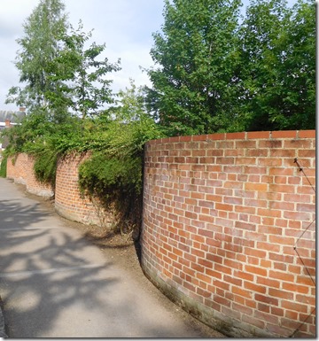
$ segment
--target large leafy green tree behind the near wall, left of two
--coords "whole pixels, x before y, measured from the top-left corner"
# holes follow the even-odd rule
[[[170,135],[227,129],[237,92],[240,0],[165,2],[162,33],[153,34],[148,105]]]

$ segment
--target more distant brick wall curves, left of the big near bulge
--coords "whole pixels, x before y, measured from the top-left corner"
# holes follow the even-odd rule
[[[63,217],[84,224],[110,226],[112,213],[106,213],[97,198],[89,199],[79,189],[79,167],[89,158],[89,154],[72,153],[58,159],[55,188],[35,178],[35,159],[31,155],[21,153],[7,160],[7,178],[16,183],[25,184],[27,192],[51,198],[55,196],[55,209]]]

